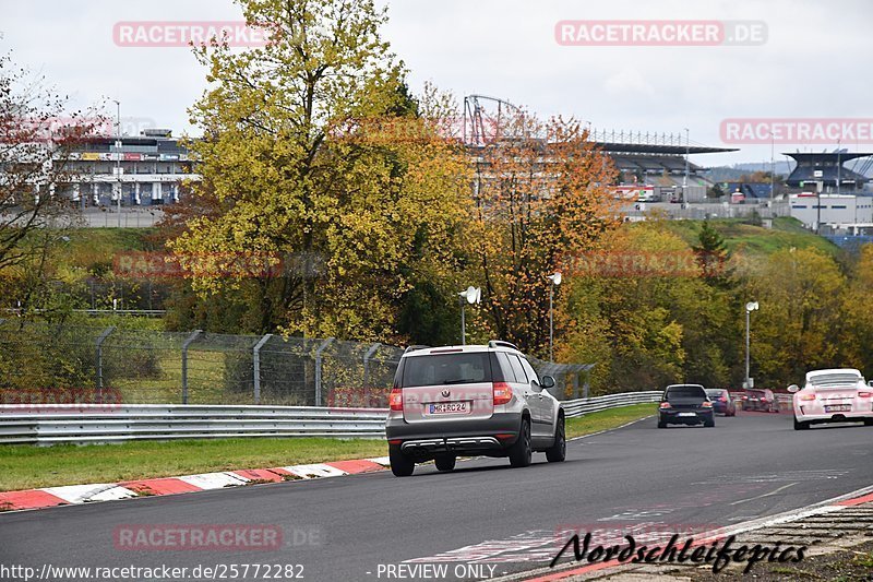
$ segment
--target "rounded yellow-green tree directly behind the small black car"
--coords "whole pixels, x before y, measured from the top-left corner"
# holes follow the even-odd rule
[[[730,297],[707,284],[690,246],[653,219],[625,225],[601,247],[567,284],[563,359],[597,364],[595,393],[725,385]]]

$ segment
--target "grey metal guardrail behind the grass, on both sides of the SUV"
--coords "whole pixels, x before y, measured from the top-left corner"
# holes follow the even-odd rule
[[[657,402],[660,391],[562,402],[567,417]],[[386,409],[135,404],[0,405],[0,444],[239,437],[383,438]]]

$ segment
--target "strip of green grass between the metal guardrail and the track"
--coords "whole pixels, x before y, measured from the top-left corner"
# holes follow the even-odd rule
[[[636,404],[569,418],[567,438],[615,428],[654,412],[653,404]],[[386,454],[385,441],[381,439],[220,439],[82,447],[4,446],[0,447],[0,491]]]

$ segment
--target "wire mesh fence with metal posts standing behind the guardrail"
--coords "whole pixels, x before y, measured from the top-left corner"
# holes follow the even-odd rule
[[[385,408],[403,349],[280,335],[0,321],[0,404],[261,404]],[[590,365],[531,358],[559,395]],[[581,392],[582,390],[582,392]]]

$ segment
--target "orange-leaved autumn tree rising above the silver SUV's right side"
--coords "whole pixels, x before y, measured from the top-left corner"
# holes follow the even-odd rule
[[[620,222],[615,170],[576,120],[518,111],[499,134],[477,152],[470,252],[493,334],[545,354],[547,277]]]

